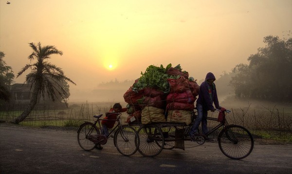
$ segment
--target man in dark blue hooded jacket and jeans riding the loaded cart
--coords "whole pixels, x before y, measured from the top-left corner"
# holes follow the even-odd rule
[[[216,109],[220,109],[216,86],[214,81],[216,80],[213,73],[209,72],[206,75],[206,79],[200,86],[199,98],[197,100],[198,117],[194,122],[189,134],[190,138],[194,140],[195,136],[198,136],[198,128],[202,123],[202,133],[208,132],[207,128],[207,115],[208,111],[214,112]],[[215,104],[216,109],[213,107]]]

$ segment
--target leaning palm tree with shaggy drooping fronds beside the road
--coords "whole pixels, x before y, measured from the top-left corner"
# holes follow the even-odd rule
[[[62,55],[62,51],[56,49],[55,46],[42,47],[40,42],[37,45],[30,43],[29,46],[33,49],[32,54],[28,56],[31,63],[26,64],[21,71],[18,72],[17,78],[30,68],[31,72],[26,76],[26,82],[31,84],[33,93],[27,108],[14,120],[15,124],[22,122],[34,109],[38,98],[42,96],[44,99],[45,94],[49,95],[49,98],[55,101],[55,97],[58,98],[56,95],[57,93],[61,96],[62,100],[66,101],[70,94],[63,88],[61,84],[63,81],[69,81],[76,85],[71,79],[64,75],[61,68],[48,62],[48,59],[51,58],[50,55]],[[35,59],[36,63],[32,63]]]

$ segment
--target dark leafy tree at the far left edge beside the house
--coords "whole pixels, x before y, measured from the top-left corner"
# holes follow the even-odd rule
[[[9,100],[9,86],[14,79],[11,66],[7,66],[3,60],[5,54],[0,51],[0,100]]]

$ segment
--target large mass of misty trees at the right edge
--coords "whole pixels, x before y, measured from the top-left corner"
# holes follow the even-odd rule
[[[292,101],[292,38],[266,36],[249,64],[237,64],[231,84],[238,98]]]

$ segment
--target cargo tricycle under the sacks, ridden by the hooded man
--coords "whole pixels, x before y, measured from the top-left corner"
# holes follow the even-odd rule
[[[220,110],[217,110],[220,111]],[[230,111],[226,110],[226,113]],[[228,158],[242,159],[251,154],[254,148],[252,134],[242,126],[229,125],[225,112],[222,121],[205,135],[199,134],[192,141],[203,144],[207,136],[219,130],[217,140],[221,152]],[[189,131],[196,119],[196,111],[192,113],[192,123],[151,123],[139,128],[140,145],[138,151],[146,157],[154,157],[163,149],[181,148],[184,150],[184,141],[191,140]],[[208,120],[218,121],[217,118],[207,117]],[[195,147],[195,146],[193,146]]]

